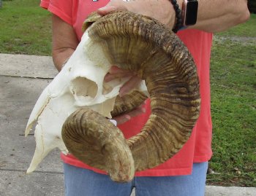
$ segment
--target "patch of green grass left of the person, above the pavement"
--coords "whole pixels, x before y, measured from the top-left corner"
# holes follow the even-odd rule
[[[4,1],[0,26],[0,52],[50,55],[50,13],[39,1]]]

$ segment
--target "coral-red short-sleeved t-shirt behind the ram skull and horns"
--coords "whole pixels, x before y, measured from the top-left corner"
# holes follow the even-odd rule
[[[81,39],[83,21],[89,13],[104,7],[109,0],[83,0],[83,1],[58,1],[58,0],[41,0],[40,6],[48,9],[54,15],[59,16],[75,29],[78,39]],[[136,172],[135,176],[178,176],[188,175],[192,172],[193,162],[206,162],[211,158],[211,107],[210,107],[210,82],[209,66],[211,55],[212,34],[197,31],[183,30],[178,32],[178,36],[187,45],[191,52],[196,66],[197,74],[200,79],[201,109],[200,117],[197,120],[192,136],[184,147],[174,155],[170,160],[162,163],[156,168]],[[141,128],[148,119],[150,114],[149,101],[146,103],[146,113],[134,117],[129,122],[118,125],[124,136],[129,138],[140,132]],[[61,154],[61,159],[80,168],[87,168],[98,173],[105,173],[97,168],[91,168],[89,165],[76,160],[71,154],[67,156]]]

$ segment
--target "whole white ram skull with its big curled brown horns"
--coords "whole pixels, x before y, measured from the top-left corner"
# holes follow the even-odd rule
[[[195,63],[175,34],[157,20],[131,12],[94,16],[84,28],[94,19],[97,22],[87,29],[31,113],[26,135],[37,121],[37,147],[28,173],[58,147],[106,170],[114,181],[129,181],[135,170],[153,168],[176,154],[199,116]],[[103,82],[113,64],[145,79],[138,90],[148,90],[151,98],[146,125],[128,140],[105,119],[111,117],[118,90],[128,79]],[[134,98],[137,95],[129,96],[131,101]],[[126,103],[114,113],[122,112]]]

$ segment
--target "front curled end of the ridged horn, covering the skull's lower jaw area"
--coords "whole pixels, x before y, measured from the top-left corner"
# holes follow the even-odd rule
[[[135,165],[123,133],[101,114],[78,109],[64,123],[62,138],[71,154],[94,168],[108,171],[113,181],[132,180]]]

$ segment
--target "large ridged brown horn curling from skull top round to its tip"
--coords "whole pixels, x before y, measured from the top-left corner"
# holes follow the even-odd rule
[[[176,34],[164,25],[150,17],[131,12],[110,13],[97,20],[88,29],[88,33],[95,43],[103,47],[110,63],[135,71],[146,81],[151,98],[151,115],[143,130],[127,140],[135,170],[153,168],[165,162],[186,143],[199,116],[199,83],[192,56]],[[78,111],[79,114],[82,111],[84,110]],[[127,161],[130,158],[127,159],[128,152],[119,152],[118,145],[121,143],[113,144],[117,149],[111,148],[113,152],[108,154],[114,156],[118,150],[118,154],[122,157],[112,157],[105,166],[102,161],[105,160],[105,155],[101,154],[101,149],[98,149],[98,152],[92,152],[83,147],[90,146],[91,142],[102,143],[99,140],[104,139],[99,137],[97,141],[91,141],[86,138],[87,129],[102,134],[105,128],[110,126],[107,119],[92,117],[92,114],[88,115],[88,113],[86,111],[83,117],[78,118],[79,120],[76,120],[74,115],[64,123],[62,136],[67,149],[83,162],[97,168],[105,168],[114,180],[127,181],[128,178],[118,179],[120,176],[115,176],[117,173],[122,173],[121,176],[129,176],[127,173],[130,171],[127,170],[129,168],[127,165],[132,164],[131,160]],[[75,119],[72,119],[73,117]],[[86,125],[83,120],[86,121]],[[83,125],[84,128],[82,128]],[[118,128],[113,125],[110,127],[113,128],[108,130],[110,133],[113,131],[121,135]],[[102,131],[103,128],[104,131]],[[69,136],[71,133],[72,136]],[[80,147],[73,145],[72,142],[77,141],[78,138],[83,138],[78,141],[78,144],[83,141],[87,141],[88,144],[79,144]],[[112,138],[113,142],[115,139]],[[125,144],[121,145],[125,146]],[[93,162],[86,160],[87,158],[83,159],[84,154],[88,154],[89,160],[94,156]],[[116,159],[123,162],[126,168],[121,169],[121,166],[114,172],[109,170],[110,165],[112,167],[115,165]],[[99,162],[100,166],[96,162]]]

